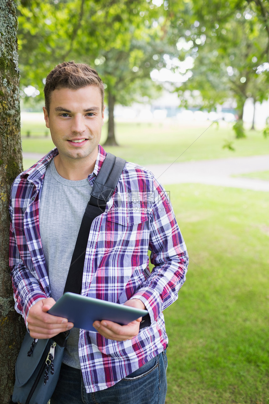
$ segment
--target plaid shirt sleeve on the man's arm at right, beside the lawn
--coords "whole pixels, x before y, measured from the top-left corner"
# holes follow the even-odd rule
[[[188,254],[177,225],[171,202],[154,179],[154,201],[150,213],[150,276],[131,299],[140,299],[149,312],[151,323],[171,303],[186,280]]]

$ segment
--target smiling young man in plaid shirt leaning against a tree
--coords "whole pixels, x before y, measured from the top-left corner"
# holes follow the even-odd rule
[[[61,63],[48,74],[44,94],[44,118],[56,148],[13,183],[10,267],[15,308],[31,337],[71,330],[51,404],[163,404],[168,338],[162,312],[177,299],[188,265],[170,202],[150,172],[126,163],[90,229],[81,294],[148,310],[144,328],[141,318],[124,326],[103,320],[90,332],[48,314],[63,295],[106,152],[99,145],[104,86],[94,69]]]

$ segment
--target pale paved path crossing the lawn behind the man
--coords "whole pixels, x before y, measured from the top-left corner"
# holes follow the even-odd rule
[[[23,157],[39,160],[43,156],[37,153],[23,153]],[[150,164],[147,168],[165,185],[200,183],[269,192],[269,181],[231,177],[232,175],[269,170],[269,155],[175,162],[171,165]]]

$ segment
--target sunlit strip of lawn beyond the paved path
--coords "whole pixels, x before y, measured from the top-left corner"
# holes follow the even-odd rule
[[[246,139],[235,140],[231,124],[223,122],[219,126],[210,125],[210,122],[197,127],[180,122],[117,123],[117,141],[120,147],[106,147],[106,150],[144,166],[172,163],[175,160],[180,162],[268,154],[269,140],[261,132],[247,131]],[[29,124],[26,122],[22,127],[23,151],[46,154],[54,145],[49,137],[42,135],[46,130],[45,124],[42,121],[40,124],[33,123],[30,127],[31,137],[25,137]],[[101,144],[106,140],[106,131],[105,124]],[[223,149],[227,139],[233,141],[235,151]],[[33,159],[30,165],[34,162]],[[24,166],[27,168],[26,162]]]

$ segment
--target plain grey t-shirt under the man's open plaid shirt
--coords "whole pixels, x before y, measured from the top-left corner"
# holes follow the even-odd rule
[[[50,162],[40,197],[39,226],[42,248],[48,269],[51,297],[57,301],[65,288],[79,227],[90,199],[88,179],[71,181],[61,177]],[[79,329],[71,329],[63,362],[80,368]]]

